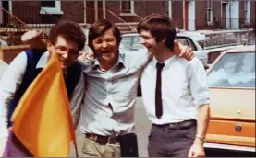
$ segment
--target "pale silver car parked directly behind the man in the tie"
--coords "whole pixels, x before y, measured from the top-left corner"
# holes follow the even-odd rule
[[[208,68],[208,52],[201,48],[197,38],[193,37],[193,35],[182,32],[177,33],[177,41],[185,46],[189,46],[192,51],[195,53],[195,57],[197,57],[203,63],[205,68]],[[122,35],[122,40],[120,43],[120,50],[124,51],[138,51],[139,49],[144,48],[142,44],[140,44],[140,35],[138,33],[127,33]]]

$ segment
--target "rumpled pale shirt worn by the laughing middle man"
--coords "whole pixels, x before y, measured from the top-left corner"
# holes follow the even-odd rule
[[[102,72],[96,60],[87,73],[85,106],[81,112],[81,132],[104,136],[134,132],[134,106],[140,72],[148,62],[147,50],[120,53],[118,62]],[[79,60],[81,64],[88,65]],[[111,105],[111,107],[109,106]]]

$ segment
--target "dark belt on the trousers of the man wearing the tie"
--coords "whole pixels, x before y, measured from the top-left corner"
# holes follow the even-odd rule
[[[182,122],[175,122],[175,123],[167,123],[162,125],[152,124],[153,126],[156,126],[158,128],[169,128],[169,129],[188,129],[191,126],[194,126],[197,124],[197,121],[195,119],[189,119],[184,120]]]

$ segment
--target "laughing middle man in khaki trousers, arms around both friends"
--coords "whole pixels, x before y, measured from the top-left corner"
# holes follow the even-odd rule
[[[86,72],[85,105],[81,107],[83,157],[138,156],[134,106],[140,72],[152,57],[146,49],[119,52],[120,41],[115,25],[106,19],[97,20],[89,30],[95,62],[89,65],[86,58],[79,58],[82,69],[92,66]],[[177,44],[176,50],[180,57],[193,58],[188,47]]]

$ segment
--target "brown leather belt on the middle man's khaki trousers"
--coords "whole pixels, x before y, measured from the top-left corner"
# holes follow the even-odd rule
[[[102,136],[102,135],[98,135],[98,134],[93,134],[93,133],[85,133],[85,137],[95,141],[101,145],[105,145],[105,144],[116,144],[118,141],[118,137],[116,136]]]

